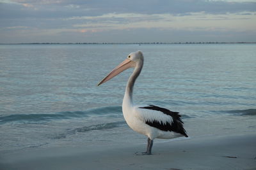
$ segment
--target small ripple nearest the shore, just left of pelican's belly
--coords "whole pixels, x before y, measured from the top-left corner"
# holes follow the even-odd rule
[[[120,125],[125,125],[125,121],[77,127],[76,129],[67,131],[66,133],[59,134],[58,136],[55,136],[53,139],[66,138],[68,135],[76,134],[77,132],[88,132],[88,131],[100,131],[100,130],[106,130],[106,129],[113,129],[115,127],[119,127]]]

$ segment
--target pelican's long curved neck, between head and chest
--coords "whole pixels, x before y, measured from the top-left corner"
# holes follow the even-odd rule
[[[142,67],[143,67],[143,60],[136,63],[136,66],[134,67],[134,71],[131,74],[131,76],[129,77],[129,80],[127,82],[126,89],[125,89],[123,106],[124,106],[124,104],[128,104],[129,106],[133,105],[133,103],[132,103],[133,86],[134,86],[136,79],[140,75]]]

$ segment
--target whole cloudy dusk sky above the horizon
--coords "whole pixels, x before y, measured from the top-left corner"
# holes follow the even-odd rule
[[[256,42],[256,0],[0,0],[0,43]]]

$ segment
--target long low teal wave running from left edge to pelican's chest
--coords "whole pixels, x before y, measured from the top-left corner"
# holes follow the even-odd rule
[[[47,120],[62,120],[70,118],[93,117],[97,115],[120,115],[122,113],[121,106],[109,106],[102,108],[94,108],[86,111],[62,111],[57,113],[33,113],[33,114],[13,114],[0,117],[0,124],[8,122],[35,122]]]

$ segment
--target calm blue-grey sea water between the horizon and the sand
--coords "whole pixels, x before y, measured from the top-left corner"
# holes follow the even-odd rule
[[[0,153],[146,143],[122,115],[132,69],[97,87],[136,50],[134,103],[180,112],[190,138],[256,132],[255,44],[0,45]]]

